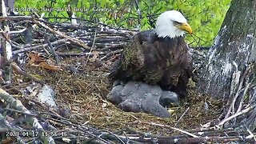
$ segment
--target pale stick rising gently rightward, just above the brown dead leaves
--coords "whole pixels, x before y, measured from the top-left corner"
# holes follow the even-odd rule
[[[50,44],[51,45],[57,45],[57,44],[65,43],[67,40],[69,40],[69,39],[68,38],[59,39],[55,42],[50,42]],[[30,46],[30,47],[22,48],[20,50],[14,50],[14,54],[22,53],[24,51],[29,51],[29,50],[35,50],[35,49],[43,48],[43,47],[46,47],[46,46],[48,46],[47,43],[42,44],[42,45],[38,45],[38,46]]]

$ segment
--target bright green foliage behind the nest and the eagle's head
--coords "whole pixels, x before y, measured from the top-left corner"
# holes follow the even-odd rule
[[[138,2],[138,3],[137,3]],[[210,46],[218,30],[222,25],[223,18],[230,5],[230,0],[16,0],[18,8],[37,8],[38,14],[45,13],[45,18],[53,18],[50,21],[62,22],[67,19],[55,19],[55,17],[69,18],[70,12],[66,8],[70,6],[75,11],[77,18],[87,19],[94,22],[102,22],[114,27],[139,28],[140,30],[151,29],[159,14],[166,10],[180,10],[188,19],[194,34],[194,38],[187,36],[192,46]],[[46,11],[42,8],[54,8]],[[102,8],[100,10],[100,8]],[[105,9],[106,8],[106,9]],[[58,9],[58,10],[57,10]],[[138,12],[138,9],[140,12]],[[106,11],[103,11],[106,10]],[[68,14],[70,13],[70,14]],[[23,11],[23,14],[30,14]],[[140,18],[139,18],[140,17]],[[199,42],[198,42],[199,41]]]

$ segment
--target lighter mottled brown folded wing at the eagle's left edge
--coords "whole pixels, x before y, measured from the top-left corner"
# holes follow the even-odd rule
[[[138,70],[144,66],[143,42],[134,36],[122,50],[121,58],[110,71],[108,78],[112,80],[125,80],[134,77]]]

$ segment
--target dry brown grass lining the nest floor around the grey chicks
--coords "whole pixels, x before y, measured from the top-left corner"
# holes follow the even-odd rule
[[[190,96],[181,100],[181,106],[174,110],[171,118],[124,112],[106,101],[106,94],[110,90],[106,78],[108,70],[93,62],[87,64],[85,62],[86,58],[68,58],[64,62],[70,66],[79,64],[84,74],[70,74],[67,71],[49,72],[26,67],[28,73],[37,75],[38,78],[44,79],[53,87],[57,95],[58,106],[71,110],[69,118],[72,121],[89,122],[99,129],[114,131],[129,129],[166,135],[172,130],[148,125],[146,122],[174,126],[178,118],[190,107],[190,110],[176,126],[187,130],[206,124],[221,114],[222,102],[206,95],[197,94],[193,90],[193,83],[190,83]],[[23,84],[23,86],[25,85]],[[205,109],[205,102],[208,103],[209,110]],[[138,122],[142,123],[138,124]]]

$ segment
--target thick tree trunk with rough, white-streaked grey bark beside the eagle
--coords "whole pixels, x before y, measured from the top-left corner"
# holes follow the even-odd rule
[[[256,58],[256,1],[233,0],[208,53],[198,90],[227,98],[238,90]]]

